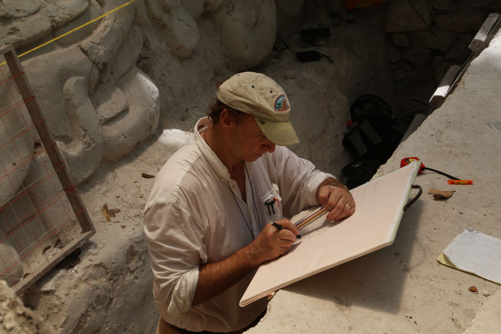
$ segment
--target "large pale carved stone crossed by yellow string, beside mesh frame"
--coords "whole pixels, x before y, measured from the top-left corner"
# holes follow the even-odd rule
[[[5,1],[2,44],[18,54],[119,5],[121,0]],[[156,130],[158,88],[136,67],[144,2],[112,13],[22,58],[47,122],[77,183],[128,154]]]

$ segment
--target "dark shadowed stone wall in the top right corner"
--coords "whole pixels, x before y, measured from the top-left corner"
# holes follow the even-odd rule
[[[395,97],[402,114],[412,111],[409,98],[428,102],[449,67],[461,66],[469,56],[468,45],[487,15],[501,13],[496,0],[410,2],[393,0],[385,23]]]

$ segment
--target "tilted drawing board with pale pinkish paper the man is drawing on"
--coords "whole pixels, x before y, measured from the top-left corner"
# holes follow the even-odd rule
[[[301,230],[289,253],[262,264],[240,305],[326,269],[391,245],[417,175],[417,160],[351,191],[356,210],[342,221],[326,215]],[[293,223],[308,212],[294,217]]]

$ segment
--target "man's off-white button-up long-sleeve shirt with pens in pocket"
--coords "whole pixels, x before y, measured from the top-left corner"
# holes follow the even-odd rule
[[[207,124],[204,117],[195,128],[202,131]],[[158,172],[144,210],[155,304],[162,318],[177,327],[238,330],[266,308],[266,298],[238,305],[255,271],[191,307],[199,266],[245,247],[268,220],[292,217],[318,205],[318,186],[334,177],[315,170],[313,163],[288,148],[276,146],[273,153],[245,162],[250,177],[249,183],[245,173],[245,203],[236,182],[198,131]],[[273,208],[264,204],[274,197],[279,203]]]

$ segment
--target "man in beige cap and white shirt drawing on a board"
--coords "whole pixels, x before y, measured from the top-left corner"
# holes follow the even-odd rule
[[[299,234],[284,217],[317,205],[331,220],[354,213],[346,187],[285,147],[299,142],[290,111],[275,81],[236,74],[157,174],[144,211],[157,333],[241,332],[267,305],[238,306],[254,269]]]

